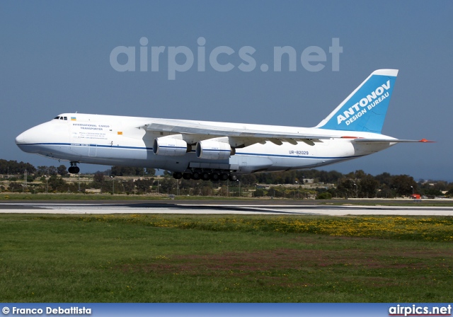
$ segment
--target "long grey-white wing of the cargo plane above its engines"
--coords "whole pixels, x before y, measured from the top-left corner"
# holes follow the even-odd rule
[[[202,123],[185,122],[182,120],[161,120],[147,125],[147,131],[168,132],[174,134],[190,134],[193,142],[202,139],[212,139],[217,137],[231,137],[236,139],[238,144],[248,146],[255,143],[263,143],[270,141],[281,145],[282,142],[297,144],[297,141],[321,142],[321,139],[330,139],[338,137],[328,134],[306,134],[306,133],[291,133],[291,132],[274,132],[254,129],[245,129],[241,127],[222,127],[214,125],[205,125]],[[194,139],[195,137],[195,139]]]

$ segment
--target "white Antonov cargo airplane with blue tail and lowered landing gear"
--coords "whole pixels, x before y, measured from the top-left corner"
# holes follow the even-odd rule
[[[77,163],[158,168],[176,179],[231,180],[316,168],[401,142],[381,134],[397,69],[373,71],[316,127],[63,113],[16,137],[28,153]]]

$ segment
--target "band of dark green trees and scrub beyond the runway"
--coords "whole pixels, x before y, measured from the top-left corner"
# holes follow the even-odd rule
[[[25,173],[26,171],[26,173]],[[23,188],[23,175],[29,183]],[[67,182],[67,167],[35,166],[30,163],[0,159],[0,174],[10,175],[8,189],[2,191],[34,192],[84,192],[88,188],[103,192],[143,194],[155,192],[173,195],[222,195],[256,197],[400,197],[412,194],[435,197],[453,195],[453,183],[442,180],[418,180],[410,175],[382,173],[370,175],[362,170],[343,174],[338,171],[300,170],[275,173],[241,175],[238,182],[218,183],[200,180],[175,180],[164,171],[163,178],[155,178],[153,168],[112,166],[107,171],[98,171],[89,182]],[[136,176],[134,180],[118,180],[119,176]],[[40,184],[32,184],[39,179]],[[313,183],[306,186],[308,182]],[[266,185],[257,187],[256,185]],[[326,186],[326,184],[333,184]]]

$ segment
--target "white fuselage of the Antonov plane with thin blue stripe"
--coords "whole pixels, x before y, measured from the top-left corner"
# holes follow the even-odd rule
[[[393,138],[382,134],[323,129],[323,134],[332,135],[330,139],[299,141],[297,144],[283,140],[281,145],[267,141],[236,148],[236,153],[228,159],[199,159],[195,149],[181,156],[154,154],[154,139],[171,132],[150,131],[147,126],[164,122],[164,119],[80,113],[59,117],[66,120],[54,119],[28,129],[16,138],[16,144],[26,152],[77,163],[161,168],[181,173],[200,168],[237,174],[324,166],[372,154],[394,144],[391,142]],[[319,131],[316,128],[180,121],[265,132],[314,134]],[[357,144],[352,141],[357,137],[379,137],[389,139],[389,143]]]

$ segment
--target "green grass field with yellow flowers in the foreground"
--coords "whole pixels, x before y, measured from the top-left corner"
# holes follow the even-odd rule
[[[452,217],[0,215],[4,302],[451,302]]]

